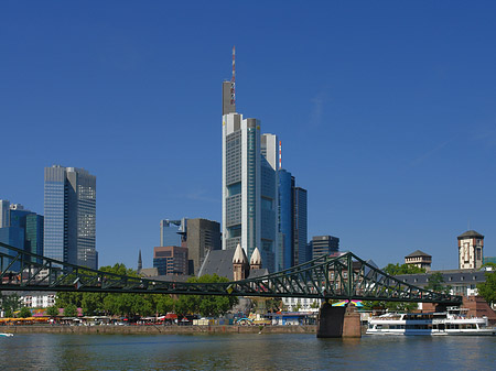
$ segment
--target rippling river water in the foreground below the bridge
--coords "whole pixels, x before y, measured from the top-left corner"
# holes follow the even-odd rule
[[[496,337],[302,334],[0,337],[1,370],[495,370]]]

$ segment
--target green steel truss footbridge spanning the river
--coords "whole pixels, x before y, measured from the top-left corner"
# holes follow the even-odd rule
[[[386,274],[352,252],[323,255],[257,279],[186,283],[119,275],[36,255],[0,242],[0,291],[308,297],[460,305],[461,296],[431,292]]]

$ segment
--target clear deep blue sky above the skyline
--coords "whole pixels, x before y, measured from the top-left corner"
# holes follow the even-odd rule
[[[220,220],[220,86],[282,140],[309,237],[384,266],[456,236],[496,255],[496,3],[2,1],[0,198],[97,176],[100,265],[145,266],[165,218]]]

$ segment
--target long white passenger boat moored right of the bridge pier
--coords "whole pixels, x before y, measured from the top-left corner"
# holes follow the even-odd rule
[[[368,320],[367,335],[496,335],[487,317],[471,317],[468,309],[444,313],[385,314]]]

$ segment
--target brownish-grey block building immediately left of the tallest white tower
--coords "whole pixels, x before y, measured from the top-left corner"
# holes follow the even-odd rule
[[[193,272],[196,275],[205,255],[211,250],[220,250],[220,225],[207,219],[187,219],[186,243],[188,259],[193,261]]]

